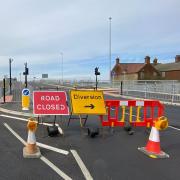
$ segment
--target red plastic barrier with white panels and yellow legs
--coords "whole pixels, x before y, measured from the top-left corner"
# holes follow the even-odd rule
[[[107,120],[104,115],[100,115],[102,126],[124,126],[125,121],[129,121],[132,126],[150,127],[153,126],[154,121],[164,115],[164,106],[157,100],[106,100],[105,103],[108,114]],[[143,117],[140,117],[140,114],[143,114]]]

